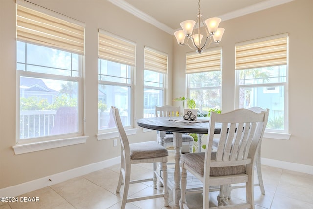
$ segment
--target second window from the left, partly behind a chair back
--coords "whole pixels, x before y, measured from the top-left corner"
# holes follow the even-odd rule
[[[99,29],[98,130],[115,127],[111,106],[119,109],[124,126],[132,126],[135,47],[133,42]]]

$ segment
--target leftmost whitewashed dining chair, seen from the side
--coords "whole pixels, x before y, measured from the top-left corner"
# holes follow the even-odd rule
[[[125,208],[126,203],[134,202],[152,198],[164,198],[164,206],[168,206],[168,187],[167,187],[167,157],[168,151],[165,147],[158,144],[156,141],[147,141],[129,144],[127,135],[125,133],[118,108],[111,107],[120,142],[121,142],[121,168],[119,174],[118,185],[116,193],[120,192],[121,186],[124,185],[122,205],[121,209]],[[153,178],[130,180],[131,176],[131,165],[139,163],[153,163]],[[162,177],[157,172],[157,163],[161,163],[162,166]],[[163,193],[153,194],[140,197],[129,198],[128,190],[129,185],[134,183],[153,181],[153,188],[156,189],[157,179],[162,183]]]

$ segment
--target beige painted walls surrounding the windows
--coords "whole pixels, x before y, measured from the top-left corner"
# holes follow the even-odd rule
[[[143,113],[143,47],[169,54],[169,91],[167,103],[184,95],[185,52],[175,38],[102,0],[31,0],[86,23],[85,53],[85,144],[14,155],[15,144],[15,0],[0,0],[0,188],[13,186],[69,169],[119,156],[112,139],[98,141],[97,134],[97,36],[98,28],[137,43],[135,117]],[[57,2],[57,3],[56,3]],[[73,7],[74,6],[74,7]],[[237,42],[269,35],[289,33],[289,125],[290,140],[265,139],[262,157],[313,165],[313,3],[294,2],[224,21],[222,109],[234,108],[234,45]],[[172,62],[173,60],[173,62]],[[173,69],[172,69],[173,66]],[[173,76],[172,79],[172,70]],[[172,81],[172,82],[171,82]],[[172,95],[173,94],[173,95]],[[92,102],[95,101],[95,102]],[[150,140],[155,132],[129,137],[131,142]]]

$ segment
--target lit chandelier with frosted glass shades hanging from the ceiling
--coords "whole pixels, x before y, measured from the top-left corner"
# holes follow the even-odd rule
[[[209,18],[203,22],[200,13],[200,0],[198,1],[198,6],[196,21],[186,20],[181,22],[182,30],[176,31],[174,36],[179,45],[187,44],[189,48],[201,54],[211,43],[219,43],[221,41],[225,29],[219,28],[221,18]],[[186,37],[187,41],[185,42]],[[205,38],[203,39],[203,37]]]

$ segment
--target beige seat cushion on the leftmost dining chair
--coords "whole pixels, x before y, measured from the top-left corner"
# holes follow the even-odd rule
[[[132,160],[168,156],[167,149],[156,141],[130,144],[129,148]]]

